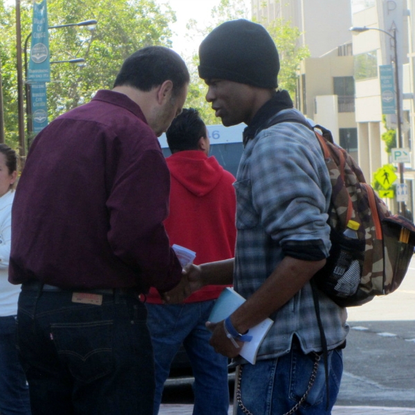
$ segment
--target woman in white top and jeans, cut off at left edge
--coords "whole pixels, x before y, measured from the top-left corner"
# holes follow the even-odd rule
[[[14,150],[0,144],[0,412],[30,415],[29,392],[16,349],[16,314],[20,286],[8,282],[13,185],[17,178]]]

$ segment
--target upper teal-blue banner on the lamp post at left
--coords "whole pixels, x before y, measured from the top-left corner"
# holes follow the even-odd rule
[[[48,10],[46,0],[33,3],[32,44],[26,82],[50,82]]]

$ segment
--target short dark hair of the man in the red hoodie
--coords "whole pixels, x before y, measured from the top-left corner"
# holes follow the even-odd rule
[[[166,131],[170,151],[197,150],[201,137],[206,137],[206,125],[194,108],[183,109]]]

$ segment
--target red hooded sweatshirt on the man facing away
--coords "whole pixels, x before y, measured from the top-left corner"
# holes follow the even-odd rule
[[[170,245],[176,243],[196,252],[196,265],[233,258],[237,237],[234,176],[200,150],[178,151],[166,161],[171,187],[164,224]],[[223,288],[205,286],[185,302],[215,299]],[[147,302],[161,303],[156,288],[151,288]]]

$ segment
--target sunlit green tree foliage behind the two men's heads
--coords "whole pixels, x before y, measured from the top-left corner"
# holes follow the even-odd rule
[[[15,16],[15,6],[3,6],[3,1],[0,0],[0,59],[6,142],[17,149]],[[22,50],[31,31],[32,16],[32,0],[21,0]],[[221,0],[219,6],[212,9],[211,24],[203,29],[195,21],[187,24],[188,36],[205,37],[223,21],[239,18],[248,18],[245,1]],[[77,26],[49,30],[52,61],[75,57],[86,59],[86,65],[82,68],[74,64],[51,65],[52,82],[47,84],[49,121],[69,109],[89,102],[98,89],[111,89],[123,60],[138,48],[149,45],[171,46],[172,32],[169,24],[176,21],[171,8],[159,6],[156,0],[48,0],[50,26],[86,19],[98,20],[94,31]],[[277,20],[268,30],[275,39],[282,62],[279,85],[292,94],[295,91],[295,71],[300,60],[308,56],[308,52],[305,48],[296,46],[300,33],[297,28],[291,28],[288,22]],[[207,124],[218,124],[220,120],[215,118],[210,104],[205,101],[208,89],[197,72],[199,57],[194,55],[185,60],[192,78],[185,106],[198,109]]]

